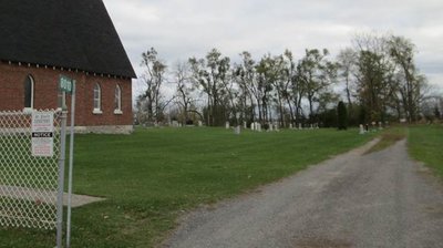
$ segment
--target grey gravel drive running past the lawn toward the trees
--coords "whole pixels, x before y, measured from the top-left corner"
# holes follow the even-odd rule
[[[199,209],[166,247],[443,247],[443,187],[405,141],[370,144],[260,192]]]

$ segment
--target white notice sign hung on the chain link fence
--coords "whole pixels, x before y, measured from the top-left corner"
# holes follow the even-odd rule
[[[54,154],[54,113],[32,112],[32,156],[52,157]]]

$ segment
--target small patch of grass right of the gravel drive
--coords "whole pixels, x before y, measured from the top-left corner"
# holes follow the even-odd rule
[[[424,162],[443,178],[443,126],[426,125],[409,128],[408,148],[416,161]]]

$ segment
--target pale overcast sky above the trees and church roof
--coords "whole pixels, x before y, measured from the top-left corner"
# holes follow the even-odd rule
[[[234,61],[241,51],[258,60],[285,49],[300,59],[306,48],[334,56],[357,33],[377,31],[411,39],[419,69],[443,87],[442,0],[103,1],[138,75],[151,46],[167,63],[203,58],[212,48]]]

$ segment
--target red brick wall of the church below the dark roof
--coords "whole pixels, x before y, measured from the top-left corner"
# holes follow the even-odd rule
[[[101,76],[85,72],[69,72],[59,69],[17,63],[0,62],[0,111],[21,111],[24,107],[24,80],[31,75],[34,80],[34,108],[58,107],[58,84],[60,74],[76,81],[75,125],[132,125],[132,84],[131,79]],[[102,114],[93,114],[94,84],[101,86]],[[122,90],[122,112],[114,114],[115,86]],[[71,106],[71,96],[66,97],[66,105]]]

